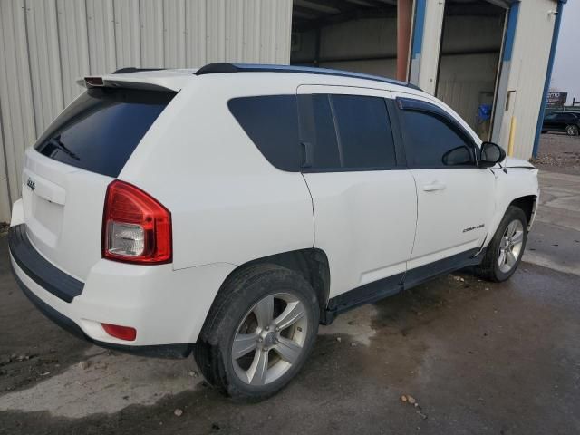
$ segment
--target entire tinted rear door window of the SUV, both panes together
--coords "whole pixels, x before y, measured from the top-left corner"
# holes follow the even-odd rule
[[[316,171],[384,169],[396,166],[384,99],[360,95],[298,97],[300,140]]]

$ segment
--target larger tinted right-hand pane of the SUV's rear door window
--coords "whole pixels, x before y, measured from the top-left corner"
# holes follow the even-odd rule
[[[333,95],[344,168],[396,166],[387,106],[382,98]]]

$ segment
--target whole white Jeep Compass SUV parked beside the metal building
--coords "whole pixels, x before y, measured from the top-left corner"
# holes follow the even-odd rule
[[[9,245],[24,293],[92,343],[193,353],[263,399],[318,324],[523,254],[537,170],[406,83],[230,63],[82,82],[26,151]]]

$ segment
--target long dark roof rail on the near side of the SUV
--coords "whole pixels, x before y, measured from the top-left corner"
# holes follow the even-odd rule
[[[375,82],[384,82],[390,84],[398,84],[407,88],[422,91],[419,86],[408,82],[400,82],[394,79],[387,79],[380,75],[352,73],[349,71],[331,70],[327,68],[314,68],[310,66],[294,66],[294,65],[275,65],[262,63],[208,63],[202,66],[195,73],[196,75],[218,74],[218,73],[310,73],[321,75],[334,75],[339,77],[352,77],[355,79],[373,80]]]

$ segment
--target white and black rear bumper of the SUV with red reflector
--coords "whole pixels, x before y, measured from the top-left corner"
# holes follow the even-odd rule
[[[25,227],[10,228],[14,276],[24,294],[54,323],[102,347],[152,356],[186,356],[218,289],[235,266],[215,264],[174,271],[100,260],[84,283],[26,246]],[[40,261],[40,259],[42,261]],[[73,281],[72,281],[73,280]],[[64,283],[76,282],[77,294]],[[134,341],[112,337],[102,324],[131,326]]]

